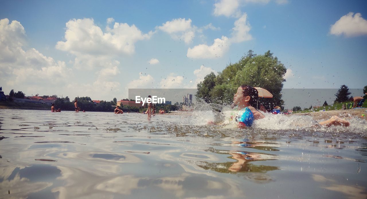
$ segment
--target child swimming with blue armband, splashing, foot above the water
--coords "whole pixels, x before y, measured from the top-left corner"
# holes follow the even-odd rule
[[[235,103],[240,109],[235,120],[238,122],[239,128],[246,128],[252,126],[255,119],[262,119],[265,116],[260,113],[256,108],[258,99],[258,91],[248,85],[242,85],[237,89],[236,94],[233,97],[233,103]],[[212,122],[210,122],[212,124]],[[327,121],[319,122],[320,125],[324,126],[349,126],[349,122],[341,119],[337,116],[333,116]]]

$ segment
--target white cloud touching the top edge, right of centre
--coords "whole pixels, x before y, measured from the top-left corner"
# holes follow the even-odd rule
[[[233,16],[239,13],[240,0],[220,0],[214,4],[215,16]]]

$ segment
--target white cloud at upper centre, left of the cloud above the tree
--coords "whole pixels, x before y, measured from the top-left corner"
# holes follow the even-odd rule
[[[185,18],[172,19],[172,21],[167,21],[157,28],[170,34],[173,39],[182,39],[188,44],[195,37],[197,30],[197,27],[192,26],[191,22],[191,19],[186,20]]]

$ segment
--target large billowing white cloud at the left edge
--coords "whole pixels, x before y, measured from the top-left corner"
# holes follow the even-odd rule
[[[25,37],[21,23],[0,20],[0,69],[4,74],[0,84],[22,88],[25,93],[31,92],[30,88],[52,89],[65,84],[72,74],[65,62],[55,61],[34,48],[24,51]]]

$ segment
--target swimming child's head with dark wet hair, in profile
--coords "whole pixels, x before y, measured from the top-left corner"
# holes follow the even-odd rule
[[[246,103],[250,106],[256,107],[258,96],[258,91],[252,86],[241,85],[233,97],[233,103],[236,105]]]

